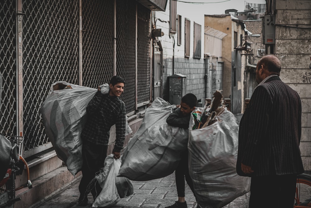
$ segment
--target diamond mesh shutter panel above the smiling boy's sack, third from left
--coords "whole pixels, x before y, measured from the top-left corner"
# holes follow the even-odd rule
[[[82,85],[92,88],[113,76],[114,1],[82,1]]]

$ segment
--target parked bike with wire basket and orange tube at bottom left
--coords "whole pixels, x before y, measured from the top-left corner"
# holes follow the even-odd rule
[[[22,188],[28,187],[32,188],[32,183],[29,177],[29,167],[26,160],[21,156],[21,151],[23,149],[24,137],[20,136],[8,136],[5,137],[0,134],[1,143],[1,173],[4,177],[0,178],[0,207],[10,207],[14,206],[16,201],[20,201],[20,197],[15,197],[15,191]],[[22,163],[20,163],[20,161]],[[19,187],[15,187],[16,173],[21,174],[24,166],[26,166],[27,179],[25,184]],[[6,170],[7,168],[7,170]],[[3,172],[6,171],[6,172]]]

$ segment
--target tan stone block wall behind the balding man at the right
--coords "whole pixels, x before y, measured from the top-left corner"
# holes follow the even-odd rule
[[[275,53],[281,60],[281,79],[300,95],[302,102],[301,156],[311,171],[311,0],[275,0]],[[290,26],[290,27],[286,27]]]

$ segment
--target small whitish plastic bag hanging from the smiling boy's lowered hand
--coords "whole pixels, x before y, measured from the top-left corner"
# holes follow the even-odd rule
[[[118,177],[121,159],[114,159],[108,155],[104,167],[95,177],[102,191],[96,197],[92,207],[110,207],[118,203],[120,198],[131,196],[134,193],[132,182],[125,177]]]

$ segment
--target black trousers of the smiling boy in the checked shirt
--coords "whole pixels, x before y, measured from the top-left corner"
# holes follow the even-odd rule
[[[82,178],[79,184],[80,200],[87,199],[88,193],[91,191],[93,198],[95,199],[102,188],[96,182],[88,187],[89,183],[95,177],[96,172],[100,168],[104,167],[105,158],[107,156],[107,145],[98,145],[90,142],[83,142],[82,144]],[[88,189],[89,188],[89,189]],[[90,189],[92,188],[92,189]]]

